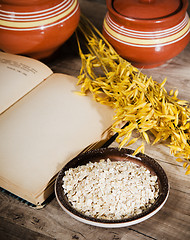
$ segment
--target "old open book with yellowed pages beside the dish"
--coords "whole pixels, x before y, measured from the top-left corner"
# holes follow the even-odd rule
[[[110,137],[113,110],[79,96],[77,79],[0,52],[0,186],[41,205],[57,173]]]

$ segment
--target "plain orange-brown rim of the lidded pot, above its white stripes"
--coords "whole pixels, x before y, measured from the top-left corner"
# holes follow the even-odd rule
[[[140,18],[131,18],[127,17],[124,15],[119,14],[113,7],[113,1],[114,0],[106,0],[107,8],[109,13],[114,16],[115,19],[118,19],[120,22],[135,22],[139,24],[160,24],[160,23],[167,23],[167,22],[175,22],[180,21],[181,18],[184,18],[185,13],[187,11],[188,7],[188,0],[181,0],[182,2],[182,7],[179,9],[178,12],[174,12],[174,14],[166,16],[166,17],[161,17],[161,18],[155,18],[155,19],[140,19]]]

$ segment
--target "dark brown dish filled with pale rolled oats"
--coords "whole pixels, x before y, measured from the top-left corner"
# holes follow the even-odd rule
[[[118,228],[156,214],[169,195],[157,161],[130,149],[100,148],[82,153],[59,172],[55,195],[61,208],[86,224]]]

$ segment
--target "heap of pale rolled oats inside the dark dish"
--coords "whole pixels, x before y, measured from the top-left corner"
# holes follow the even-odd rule
[[[141,213],[158,197],[157,176],[131,161],[89,162],[70,168],[63,189],[73,207],[100,219],[123,219]]]

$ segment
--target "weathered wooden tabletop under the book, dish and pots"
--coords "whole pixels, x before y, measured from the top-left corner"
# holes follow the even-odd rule
[[[105,1],[79,2],[82,12],[101,29],[106,13]],[[58,51],[56,58],[47,64],[54,72],[77,76],[81,62],[75,38],[70,38]],[[166,88],[179,89],[179,98],[190,101],[190,44],[165,65],[143,72],[158,82],[167,77]],[[117,144],[113,143],[112,146]],[[68,216],[61,210],[55,197],[45,208],[35,210],[0,192],[0,239],[190,239],[190,176],[185,176],[181,164],[175,161],[163,144],[147,146],[145,153],[158,160],[168,175],[171,187],[164,207],[147,221],[119,229],[98,228]]]

